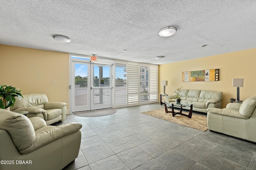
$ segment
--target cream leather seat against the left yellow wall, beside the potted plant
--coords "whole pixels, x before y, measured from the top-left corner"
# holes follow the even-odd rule
[[[40,117],[46,125],[51,125],[66,119],[66,105],[63,102],[48,102],[46,94],[27,94],[21,100],[16,99],[10,111],[28,111],[27,117]]]

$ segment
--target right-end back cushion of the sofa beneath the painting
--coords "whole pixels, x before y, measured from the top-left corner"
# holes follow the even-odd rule
[[[223,92],[220,91],[208,91],[208,90],[202,90],[198,101],[200,102],[207,102],[209,99],[218,99],[222,100],[222,94]]]

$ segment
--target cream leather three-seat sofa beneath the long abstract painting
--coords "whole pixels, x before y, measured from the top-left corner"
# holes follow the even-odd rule
[[[193,105],[193,111],[207,113],[208,108],[221,108],[222,94],[219,91],[207,90],[180,90],[180,99],[182,102],[188,102]],[[168,95],[166,99],[176,99],[175,95]],[[183,107],[182,109],[190,109]]]

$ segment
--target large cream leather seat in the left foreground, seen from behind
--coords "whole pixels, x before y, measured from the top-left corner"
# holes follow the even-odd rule
[[[0,170],[60,170],[78,156],[82,125],[47,126],[0,109]]]

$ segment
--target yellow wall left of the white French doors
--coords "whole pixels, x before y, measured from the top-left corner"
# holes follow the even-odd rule
[[[0,84],[19,88],[22,94],[45,93],[48,101],[69,103],[68,53],[0,45],[0,63]]]

